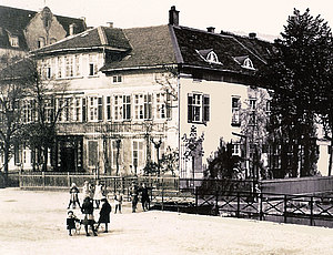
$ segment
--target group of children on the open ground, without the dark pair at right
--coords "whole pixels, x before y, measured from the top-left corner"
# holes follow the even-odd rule
[[[97,181],[97,184],[94,188],[92,185],[85,181],[84,185],[82,187],[82,196],[83,196],[83,203],[80,205],[79,201],[79,188],[75,185],[75,183],[72,183],[70,187],[70,202],[68,205],[68,210],[72,205],[72,208],[74,210],[77,207],[77,204],[79,205],[81,213],[84,215],[83,221],[80,221],[73,213],[73,211],[68,211],[68,218],[67,218],[67,228],[69,231],[69,235],[72,235],[72,230],[75,230],[75,224],[83,224],[85,230],[85,235],[90,236],[88,230],[89,226],[92,230],[92,233],[94,236],[97,236],[97,231],[101,223],[105,224],[104,233],[108,233],[108,223],[110,223],[110,213],[112,211],[111,205],[108,202],[108,198],[103,194],[102,184]],[[93,217],[93,202],[95,202],[95,208],[99,208],[102,202],[102,206],[100,210],[100,217],[98,221],[97,227],[94,227],[94,217]],[[115,212],[119,211],[121,213],[121,204],[122,204],[122,195],[121,193],[118,193],[114,196],[114,204],[115,204]]]

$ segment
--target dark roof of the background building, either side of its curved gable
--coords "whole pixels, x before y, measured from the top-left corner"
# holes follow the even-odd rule
[[[14,49],[14,50],[28,50],[24,29],[29,24],[30,20],[37,14],[36,11],[17,9],[11,7],[0,6],[0,48]],[[60,24],[67,31],[69,35],[69,26],[75,24],[75,31],[81,32],[85,30],[85,22],[83,19],[75,19],[63,16],[56,16]],[[20,48],[10,45],[9,34],[17,35],[19,38]]]

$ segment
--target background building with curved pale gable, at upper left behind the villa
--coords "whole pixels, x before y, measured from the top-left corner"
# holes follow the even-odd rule
[[[56,16],[48,7],[36,12],[0,6],[0,57],[22,57],[85,29],[84,19]]]

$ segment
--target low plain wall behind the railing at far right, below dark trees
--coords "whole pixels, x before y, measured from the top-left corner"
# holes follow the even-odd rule
[[[333,192],[333,176],[276,178],[261,182],[264,193],[314,194]]]

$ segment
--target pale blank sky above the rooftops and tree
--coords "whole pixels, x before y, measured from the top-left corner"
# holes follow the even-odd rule
[[[48,6],[54,14],[84,17],[89,27],[135,28],[167,24],[169,10],[180,11],[180,24],[276,38],[296,8],[321,16],[333,28],[332,0],[0,0],[0,6],[40,11]]]

